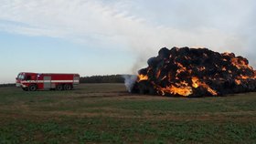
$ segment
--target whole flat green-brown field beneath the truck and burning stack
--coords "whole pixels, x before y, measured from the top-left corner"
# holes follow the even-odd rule
[[[256,93],[166,98],[123,84],[0,87],[0,143],[256,143]]]

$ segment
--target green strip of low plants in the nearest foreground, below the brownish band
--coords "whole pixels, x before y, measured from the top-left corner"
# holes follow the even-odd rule
[[[1,123],[1,143],[253,143],[256,123],[58,118]]]

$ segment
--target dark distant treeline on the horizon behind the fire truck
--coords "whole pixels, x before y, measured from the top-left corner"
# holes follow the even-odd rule
[[[123,83],[124,75],[80,77],[80,83]],[[130,75],[125,75],[130,76]],[[15,87],[15,84],[0,84],[0,87]]]

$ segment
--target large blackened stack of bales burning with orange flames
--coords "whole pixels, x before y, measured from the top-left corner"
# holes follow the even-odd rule
[[[256,91],[256,71],[233,53],[164,47],[147,64],[138,71],[133,93],[193,98]]]

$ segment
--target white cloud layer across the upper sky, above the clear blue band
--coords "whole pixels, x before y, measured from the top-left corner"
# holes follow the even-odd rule
[[[208,47],[248,57],[255,67],[255,3],[252,0],[3,0],[0,30],[60,37],[85,46],[123,48],[143,62],[163,46]],[[131,69],[142,65],[137,62]]]

